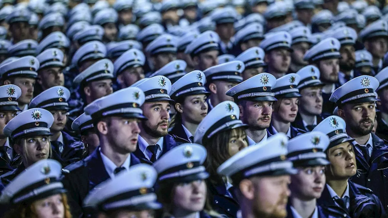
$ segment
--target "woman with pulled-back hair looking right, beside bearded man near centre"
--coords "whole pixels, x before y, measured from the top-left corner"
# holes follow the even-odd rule
[[[175,124],[169,134],[177,141],[194,142],[194,134],[199,123],[208,114],[206,99],[209,92],[204,87],[205,74],[201,71],[192,71],[172,86],[170,97],[175,101]]]

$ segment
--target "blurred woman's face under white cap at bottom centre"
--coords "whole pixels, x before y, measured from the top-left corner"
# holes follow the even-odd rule
[[[196,180],[190,183],[180,183],[175,187],[172,199],[173,210],[190,213],[202,211],[206,200],[206,183]]]

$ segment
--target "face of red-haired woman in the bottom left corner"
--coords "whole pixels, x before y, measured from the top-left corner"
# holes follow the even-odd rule
[[[65,206],[61,194],[56,194],[33,202],[38,218],[64,218]]]

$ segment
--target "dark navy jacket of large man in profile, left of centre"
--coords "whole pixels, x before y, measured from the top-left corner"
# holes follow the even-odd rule
[[[130,166],[139,164],[139,159],[131,155]],[[65,167],[62,175],[62,183],[68,190],[69,205],[73,217],[79,217],[83,214],[82,201],[96,185],[109,179],[101,159],[99,147],[97,147],[90,156],[76,163]],[[130,182],[130,181],[128,181]]]

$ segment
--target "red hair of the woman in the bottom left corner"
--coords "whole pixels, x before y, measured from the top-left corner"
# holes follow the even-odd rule
[[[68,196],[65,193],[61,193],[63,206],[65,208],[64,218],[72,218],[70,213],[70,206],[68,204]],[[30,204],[18,204],[14,208],[10,209],[5,215],[5,218],[38,218],[34,202]]]

